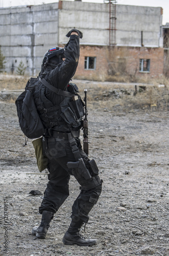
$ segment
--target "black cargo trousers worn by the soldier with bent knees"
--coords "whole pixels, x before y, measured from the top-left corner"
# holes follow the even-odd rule
[[[82,150],[80,140],[76,138],[79,147],[80,155],[84,159],[86,154]],[[94,204],[99,199],[102,191],[102,181],[99,176],[92,177],[86,180],[78,172],[77,168],[68,169],[67,162],[75,162],[75,157],[71,151],[68,140],[61,140],[50,138],[43,141],[44,155],[48,158],[49,182],[44,192],[44,198],[39,212],[42,214],[43,210],[49,210],[54,213],[63,204],[69,196],[69,179],[70,175],[74,175],[81,186],[81,191],[72,207],[71,218],[80,219],[88,222],[88,214]]]

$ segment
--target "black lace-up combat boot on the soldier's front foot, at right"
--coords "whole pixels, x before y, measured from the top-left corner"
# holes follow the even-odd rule
[[[84,222],[71,221],[69,228],[67,229],[62,242],[68,245],[77,244],[79,246],[90,246],[96,244],[96,239],[85,239],[80,234],[80,228],[82,227]]]

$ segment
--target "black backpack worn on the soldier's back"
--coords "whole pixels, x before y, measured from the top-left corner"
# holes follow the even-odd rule
[[[37,81],[37,78],[31,78],[31,83],[30,80],[27,82],[25,91],[15,101],[20,128],[29,139],[39,138],[45,132],[31,90],[33,79]]]

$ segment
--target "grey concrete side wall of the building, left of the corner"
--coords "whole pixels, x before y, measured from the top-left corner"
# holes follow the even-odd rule
[[[58,45],[58,3],[0,9],[0,45],[6,57],[6,71],[14,73],[19,62],[26,73],[36,75],[42,56]]]

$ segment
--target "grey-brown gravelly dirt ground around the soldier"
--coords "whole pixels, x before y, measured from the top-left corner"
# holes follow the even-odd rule
[[[14,104],[18,92],[8,92],[23,89],[26,80],[0,77],[0,255],[168,256],[166,86],[74,81],[82,96],[83,90],[88,90],[89,155],[104,181],[98,204],[90,212],[85,231],[82,228],[85,237],[98,242],[79,247],[62,243],[71,205],[79,194],[74,177],[70,179],[70,196],[51,222],[46,239],[31,234],[32,227],[40,224],[38,207],[47,177],[44,171],[38,172],[31,140],[22,146],[25,139]],[[39,190],[41,195],[32,196],[31,190]]]

